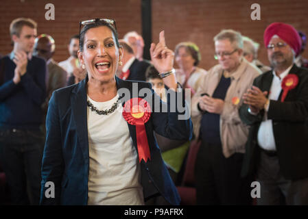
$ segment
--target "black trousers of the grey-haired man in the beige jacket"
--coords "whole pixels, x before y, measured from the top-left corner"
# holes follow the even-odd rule
[[[242,153],[226,158],[222,145],[202,142],[195,166],[197,205],[252,204],[252,180],[240,175],[243,158]]]

